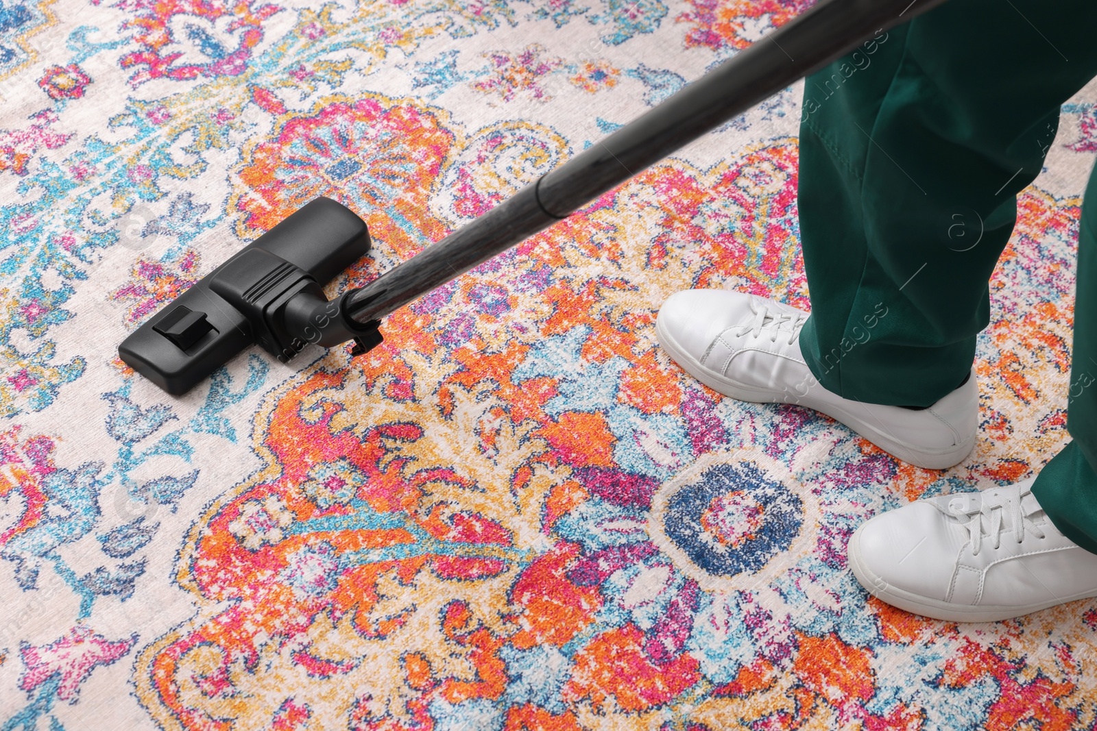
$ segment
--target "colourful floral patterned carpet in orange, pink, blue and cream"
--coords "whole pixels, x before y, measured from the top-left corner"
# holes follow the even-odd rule
[[[0,2],[0,729],[1093,729],[1097,602],[869,599],[853,528],[1066,438],[1064,107],[994,275],[962,465],[896,462],[658,349],[671,293],[804,308],[800,87],[404,308],[183,398],[123,338],[316,195],[362,283],[802,0]]]

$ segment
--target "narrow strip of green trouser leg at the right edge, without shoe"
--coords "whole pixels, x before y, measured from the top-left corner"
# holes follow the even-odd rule
[[[1077,273],[1066,410],[1074,441],[1040,470],[1032,494],[1056,528],[1097,553],[1097,170],[1082,205]]]

